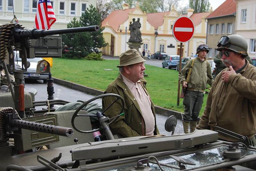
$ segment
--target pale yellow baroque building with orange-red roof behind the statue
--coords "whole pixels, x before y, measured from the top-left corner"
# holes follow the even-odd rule
[[[110,56],[119,56],[125,50],[128,50],[128,42],[130,38],[129,25],[132,18],[136,20],[140,18],[141,38],[143,49],[147,52],[154,53],[156,51],[164,51],[168,55],[177,55],[180,52],[180,43],[177,42],[172,35],[172,25],[179,17],[178,12],[172,8],[169,12],[158,12],[146,14],[142,12],[140,7],[129,9],[128,5],[123,5],[124,10],[113,11],[104,21],[102,26],[103,36],[107,46],[102,48],[103,54]],[[209,13],[195,13],[193,9],[188,9],[187,16],[192,19],[195,25],[195,33],[192,39],[183,43],[183,56],[195,55],[196,46],[206,42],[206,26]],[[127,30],[127,31],[126,31]]]

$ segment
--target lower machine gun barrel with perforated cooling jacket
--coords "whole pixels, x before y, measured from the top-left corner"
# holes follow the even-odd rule
[[[11,121],[11,125],[17,128],[29,129],[29,130],[56,134],[60,136],[67,136],[67,137],[71,137],[74,134],[74,130],[72,128],[48,125],[48,124],[38,123],[38,122],[30,122],[26,120],[13,119]]]

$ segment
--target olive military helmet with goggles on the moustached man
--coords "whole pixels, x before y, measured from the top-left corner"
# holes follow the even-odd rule
[[[220,41],[217,44],[217,51],[221,50],[231,50],[236,53],[240,53],[243,56],[248,56],[247,53],[247,42],[244,37],[240,35],[224,35],[220,38]]]

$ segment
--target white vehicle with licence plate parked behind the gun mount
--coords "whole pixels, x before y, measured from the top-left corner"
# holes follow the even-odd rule
[[[15,56],[15,63],[18,65],[21,64],[21,58],[20,58],[20,53],[19,51],[14,51],[14,56]],[[36,66],[37,62],[43,60],[43,58],[28,58],[27,61],[30,62],[30,66],[28,67],[28,70],[23,73],[25,79],[34,79],[34,80],[43,80],[46,82],[46,79],[48,78],[49,73],[42,73],[42,74],[36,74]]]

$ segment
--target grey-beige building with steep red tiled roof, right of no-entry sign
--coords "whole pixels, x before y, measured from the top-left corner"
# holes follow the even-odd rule
[[[207,17],[207,38],[209,46],[208,59],[213,59],[219,51],[216,50],[217,43],[223,35],[235,34],[236,26],[236,3],[226,0]]]

